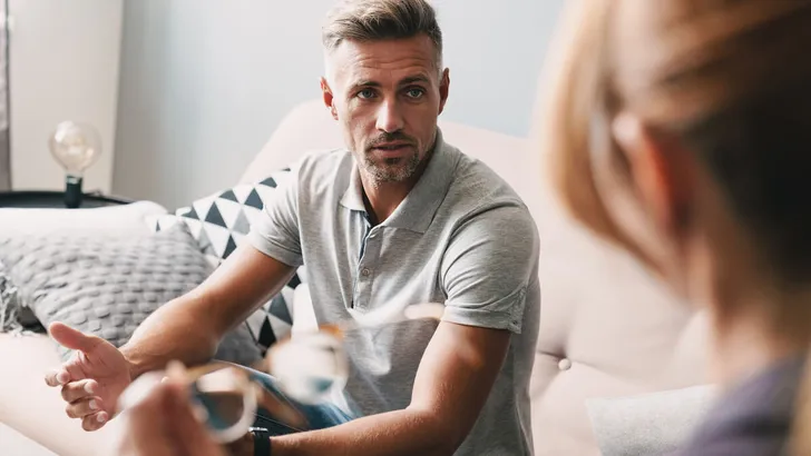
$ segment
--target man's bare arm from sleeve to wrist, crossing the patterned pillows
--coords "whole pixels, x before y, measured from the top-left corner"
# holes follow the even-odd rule
[[[131,377],[163,369],[170,359],[186,365],[207,361],[225,334],[279,293],[294,272],[247,242],[240,246],[197,288],[167,303],[138,326],[121,347]]]

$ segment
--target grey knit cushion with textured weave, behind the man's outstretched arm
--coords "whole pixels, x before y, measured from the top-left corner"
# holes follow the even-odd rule
[[[117,347],[155,309],[212,272],[183,226],[126,237],[81,232],[0,237],[0,261],[19,288],[19,300],[43,326],[62,321]],[[68,350],[59,349],[67,357]],[[216,357],[248,365],[261,354],[241,325],[221,344]]]

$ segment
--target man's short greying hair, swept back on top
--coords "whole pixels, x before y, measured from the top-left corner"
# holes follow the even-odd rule
[[[378,41],[427,34],[437,48],[442,70],[442,31],[437,12],[426,0],[342,0],[326,17],[322,42],[328,52],[344,40]]]

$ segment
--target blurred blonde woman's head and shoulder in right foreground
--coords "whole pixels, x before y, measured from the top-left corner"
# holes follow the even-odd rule
[[[571,8],[545,87],[555,186],[712,317],[724,393],[682,454],[811,455],[811,1]]]

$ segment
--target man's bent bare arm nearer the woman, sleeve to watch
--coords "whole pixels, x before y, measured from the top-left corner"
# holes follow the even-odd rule
[[[442,321],[420,363],[403,410],[272,438],[274,456],[452,455],[496,381],[510,333]]]

